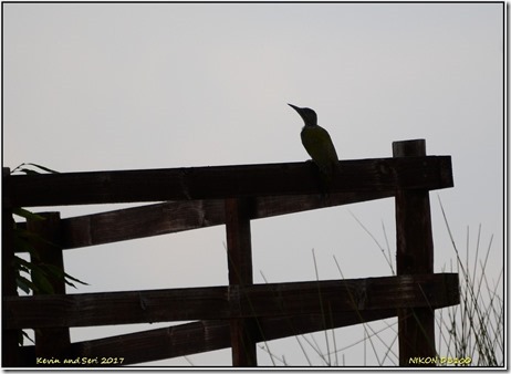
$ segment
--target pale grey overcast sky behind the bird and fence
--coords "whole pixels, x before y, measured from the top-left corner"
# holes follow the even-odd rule
[[[302,162],[302,121],[286,103],[309,106],[341,159],[390,157],[394,141],[413,138],[425,138],[430,155],[451,155],[455,187],[430,194],[435,270],[455,259],[439,196],[463,253],[469,227],[470,259],[479,225],[480,251],[494,235],[487,277],[497,279],[502,82],[502,3],[3,3],[3,166]],[[341,278],[333,256],[345,278],[390,274],[351,212],[383,246],[385,227],[394,259],[389,198],[252,221],[254,281],[264,282],[261,272],[269,282],[316,279],[313,249],[320,279]],[[216,227],[66,251],[66,271],[91,283],[69,292],[227,284],[225,240]],[[72,329],[72,340],[126,331]],[[337,335],[347,345],[363,330]],[[270,349],[307,364],[294,339]],[[345,364],[362,364],[359,352],[344,351]],[[189,360],[230,365],[230,351]],[[259,362],[272,364],[262,350]]]

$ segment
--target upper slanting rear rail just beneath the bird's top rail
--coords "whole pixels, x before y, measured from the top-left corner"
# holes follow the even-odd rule
[[[253,198],[251,219],[393,197],[394,191]],[[225,225],[223,200],[167,201],[61,219],[63,249],[105,245]]]

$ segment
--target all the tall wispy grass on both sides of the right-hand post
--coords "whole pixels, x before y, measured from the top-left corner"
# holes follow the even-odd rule
[[[466,253],[465,256],[461,254],[452,236],[441,200],[438,199],[438,201],[455,254],[450,269],[447,270],[447,267],[444,267],[442,271],[459,274],[460,303],[439,309],[435,313],[437,366],[504,366],[503,266],[497,280],[490,280],[487,276],[493,236],[491,236],[489,243],[483,247],[480,225],[477,231],[476,248],[471,248],[470,230],[467,228]],[[353,214],[352,216],[376,242],[394,274],[385,227],[383,229],[386,248],[378,243],[375,236]],[[471,254],[472,260],[469,260]],[[334,260],[337,263],[335,257]],[[315,257],[314,267],[317,276]],[[341,277],[344,278],[338,263],[337,269]],[[324,313],[327,315],[328,311]],[[346,329],[299,335],[294,336],[294,339],[298,341],[300,351],[310,366],[366,366],[368,362],[371,362],[369,365],[378,366],[398,365],[397,319],[357,325],[358,332],[356,335],[358,337],[355,337],[353,343],[340,346],[337,336],[346,335]],[[355,326],[348,329],[355,329]],[[270,355],[273,365],[293,365],[285,356],[280,356],[272,352],[268,344],[259,345],[259,347]],[[352,349],[354,347],[362,351],[362,362],[358,360],[358,355],[353,357]],[[355,362],[355,360],[358,361]]]

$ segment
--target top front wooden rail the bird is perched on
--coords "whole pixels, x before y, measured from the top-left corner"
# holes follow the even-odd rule
[[[452,186],[450,156],[340,162],[330,193]],[[312,163],[9,176],[7,206],[59,206],[316,194]]]

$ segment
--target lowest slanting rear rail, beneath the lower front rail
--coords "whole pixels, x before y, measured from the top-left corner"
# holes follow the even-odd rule
[[[396,316],[395,309],[338,313],[328,315],[327,329],[371,322]],[[322,315],[264,316],[260,319],[261,333],[257,342],[311,333],[325,329]],[[263,337],[264,336],[264,337]],[[117,365],[180,357],[231,346],[229,321],[211,320],[185,323],[170,328],[122,334],[71,345],[70,357],[122,357]],[[23,366],[35,366],[33,346],[23,349]],[[92,365],[103,366],[105,365]]]

